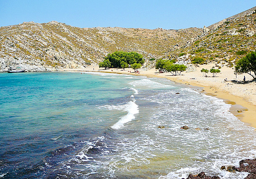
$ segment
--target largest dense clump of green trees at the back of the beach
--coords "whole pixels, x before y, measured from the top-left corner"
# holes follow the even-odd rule
[[[143,56],[136,52],[115,51],[108,54],[104,61],[99,63],[99,67],[125,69],[134,63],[143,64],[144,62]]]

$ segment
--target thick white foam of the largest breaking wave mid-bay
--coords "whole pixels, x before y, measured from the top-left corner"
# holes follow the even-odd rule
[[[115,109],[119,108],[119,109],[123,109],[128,112],[125,116],[122,116],[121,119],[116,124],[111,126],[111,128],[113,128],[113,129],[122,128],[125,123],[133,120],[135,118],[134,115],[139,112],[138,105],[136,103],[134,103],[133,101],[130,101],[122,106],[112,106],[112,108],[115,108]]]

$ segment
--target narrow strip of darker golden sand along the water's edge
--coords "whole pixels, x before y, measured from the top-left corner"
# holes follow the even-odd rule
[[[190,81],[186,81],[186,80],[181,80],[181,79],[177,79],[174,76],[168,76],[167,73],[165,73],[165,75],[157,75],[156,74],[149,74],[149,73],[143,73],[145,71],[142,71],[142,73],[140,74],[135,74],[134,72],[130,73],[128,72],[128,70],[126,71],[117,71],[116,69],[114,69],[114,71],[109,71],[109,70],[84,70],[84,69],[70,69],[70,70],[64,70],[66,72],[68,71],[76,71],[76,72],[103,72],[103,73],[115,73],[115,74],[126,74],[126,75],[138,75],[138,76],[147,76],[147,77],[151,77],[151,78],[166,78],[169,79],[175,83],[180,83],[180,84],[184,84],[187,86],[194,86],[194,87],[203,87],[203,90],[201,90],[202,94],[205,95],[209,95],[209,96],[214,96],[218,99],[223,100],[226,104],[231,104],[229,111],[237,117],[238,120],[240,120],[241,122],[244,123],[244,125],[248,126],[248,127],[253,127],[256,130],[256,120],[255,120],[255,116],[256,116],[256,105],[251,104],[250,102],[244,100],[242,97],[240,96],[235,96],[233,94],[230,94],[226,91],[223,91],[222,89],[219,89],[217,87],[214,86],[209,86],[209,85],[203,85],[200,83],[195,83],[195,82],[190,82]],[[162,73],[163,74],[163,73]],[[177,76],[176,76],[177,77]],[[242,112],[237,112],[238,110],[242,110]]]

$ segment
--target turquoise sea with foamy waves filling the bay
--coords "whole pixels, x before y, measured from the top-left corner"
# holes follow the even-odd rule
[[[229,107],[167,79],[2,73],[0,178],[244,178],[220,170],[256,154]]]

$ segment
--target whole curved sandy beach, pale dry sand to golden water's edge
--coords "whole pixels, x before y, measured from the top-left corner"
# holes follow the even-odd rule
[[[213,64],[201,65],[193,72],[183,72],[182,75],[173,76],[171,73],[158,73],[158,70],[151,69],[148,71],[140,71],[139,74],[134,73],[132,69],[99,69],[97,65],[92,65],[86,70],[82,69],[67,69],[66,71],[100,71],[100,72],[112,72],[123,73],[130,75],[145,75],[148,77],[160,77],[167,78],[177,83],[186,85],[204,87],[202,93],[217,98],[223,99],[225,103],[232,104],[230,112],[232,112],[239,120],[244,122],[248,126],[256,128],[256,82],[244,83],[243,77],[246,76],[246,81],[251,80],[252,77],[248,74],[234,75],[234,70],[229,67],[222,67],[221,73],[216,77],[203,77],[200,72],[202,68],[210,69]],[[93,70],[94,68],[94,70]],[[128,72],[128,71],[131,71]],[[208,73],[208,76],[212,76]],[[195,79],[192,79],[195,78]],[[224,79],[227,79],[225,81]],[[237,80],[232,82],[231,80]],[[237,112],[237,110],[243,110]]]

